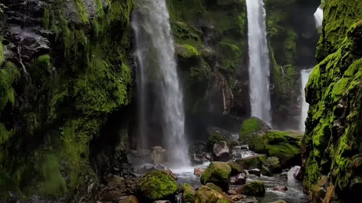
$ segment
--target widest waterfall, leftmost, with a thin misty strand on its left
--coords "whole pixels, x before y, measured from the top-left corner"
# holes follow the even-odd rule
[[[164,148],[169,150],[170,164],[173,166],[188,164],[188,147],[185,137],[185,112],[183,91],[180,88],[174,43],[171,35],[169,15],[165,0],[136,0],[136,11],[132,19],[132,28],[136,38],[137,88],[139,96],[139,128],[141,147],[147,147],[149,136],[157,139],[146,128],[148,103],[153,98],[149,92],[156,92],[153,99],[160,109],[160,127]],[[154,88],[150,90],[149,83]]]

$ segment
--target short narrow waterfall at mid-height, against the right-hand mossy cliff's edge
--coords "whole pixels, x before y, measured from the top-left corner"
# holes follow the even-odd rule
[[[300,131],[305,131],[305,120],[308,117],[308,109],[309,109],[309,104],[305,101],[305,87],[308,83],[309,80],[309,76],[312,73],[313,68],[311,69],[305,69],[305,70],[301,70],[301,83],[302,83],[302,89],[301,89],[301,97],[302,97],[302,105],[301,105],[301,115],[300,115],[300,124],[299,124],[299,130]]]

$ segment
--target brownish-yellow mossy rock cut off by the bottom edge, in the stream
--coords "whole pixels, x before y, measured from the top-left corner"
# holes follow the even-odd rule
[[[224,193],[216,191],[208,186],[201,186],[196,192],[195,203],[233,203]]]

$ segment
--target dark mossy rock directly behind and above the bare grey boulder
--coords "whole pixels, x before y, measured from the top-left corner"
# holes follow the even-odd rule
[[[209,138],[207,142],[207,147],[213,149],[213,146],[216,142],[225,141],[228,146],[235,146],[237,142],[232,139],[231,133],[224,131],[219,128],[209,128],[208,130]]]

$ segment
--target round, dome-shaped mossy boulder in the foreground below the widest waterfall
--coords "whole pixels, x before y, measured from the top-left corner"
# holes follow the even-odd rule
[[[178,191],[174,178],[162,170],[153,170],[139,178],[136,184],[137,196],[145,201],[169,199]]]

